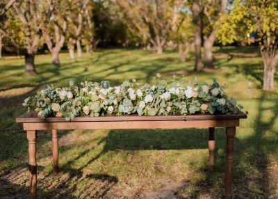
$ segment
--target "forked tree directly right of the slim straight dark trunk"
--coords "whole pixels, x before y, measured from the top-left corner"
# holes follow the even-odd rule
[[[226,13],[228,0],[206,0],[202,15],[202,33],[204,38],[204,67],[213,67],[213,44],[218,26],[215,22]],[[216,23],[217,24],[217,23]]]

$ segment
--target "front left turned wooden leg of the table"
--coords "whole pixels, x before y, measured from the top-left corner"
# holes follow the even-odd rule
[[[27,131],[28,139],[28,179],[30,184],[31,198],[37,198],[37,163],[35,161],[35,131]]]

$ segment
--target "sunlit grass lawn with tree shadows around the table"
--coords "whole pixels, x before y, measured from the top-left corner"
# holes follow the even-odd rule
[[[158,56],[142,49],[98,49],[70,61],[35,57],[38,75],[22,76],[24,59],[0,60],[0,198],[28,198],[26,134],[15,117],[22,101],[49,83],[90,80],[151,81],[156,72],[171,81],[185,74],[227,83],[227,93],[249,112],[235,139],[234,198],[278,198],[278,75],[275,90],[263,92],[263,62],[255,47],[215,48],[215,70],[193,72],[194,56],[181,63],[177,51]],[[248,83],[251,82],[251,89]],[[208,131],[60,131],[60,173],[52,175],[51,134],[38,132],[40,198],[221,198],[224,191],[224,129],[216,130],[215,172],[208,172]]]

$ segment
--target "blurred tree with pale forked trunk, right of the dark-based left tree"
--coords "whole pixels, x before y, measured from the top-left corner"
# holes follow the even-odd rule
[[[52,56],[52,64],[60,66],[59,53],[65,42],[67,31],[67,3],[59,0],[45,1],[44,23],[42,32],[44,40]]]

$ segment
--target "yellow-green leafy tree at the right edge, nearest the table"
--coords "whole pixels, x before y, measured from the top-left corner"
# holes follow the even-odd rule
[[[238,0],[234,1],[231,12],[222,15],[219,22],[218,38],[223,44],[241,38],[248,41],[248,35],[255,35],[263,58],[263,90],[274,88],[275,70],[278,65],[277,17],[276,0]]]

